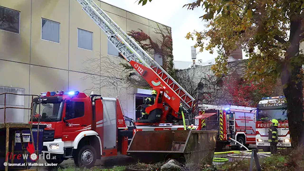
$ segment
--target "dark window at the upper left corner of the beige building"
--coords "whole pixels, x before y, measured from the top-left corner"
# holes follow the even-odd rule
[[[20,33],[20,12],[0,6],[0,29]]]

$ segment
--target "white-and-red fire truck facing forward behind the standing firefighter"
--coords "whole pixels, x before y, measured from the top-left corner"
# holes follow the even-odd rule
[[[268,131],[271,126],[271,119],[279,121],[279,142],[277,146],[291,146],[285,96],[263,97],[257,105],[256,114],[256,144],[258,148],[262,148],[264,151],[268,151],[270,148],[270,143],[268,142]]]

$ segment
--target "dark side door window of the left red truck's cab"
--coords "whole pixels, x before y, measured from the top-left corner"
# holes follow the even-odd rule
[[[65,112],[65,117],[67,119],[83,117],[84,114],[85,114],[85,103],[71,101],[69,104],[67,104],[66,112]]]

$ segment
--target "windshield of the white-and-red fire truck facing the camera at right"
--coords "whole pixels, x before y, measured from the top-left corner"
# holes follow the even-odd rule
[[[287,109],[257,109],[257,121],[270,121],[271,119],[276,120],[288,120],[287,119]]]

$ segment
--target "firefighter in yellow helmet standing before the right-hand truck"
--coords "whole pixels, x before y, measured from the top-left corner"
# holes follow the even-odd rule
[[[271,127],[268,131],[268,142],[270,142],[270,152],[271,154],[277,153],[277,144],[278,144],[278,120],[271,120]]]

